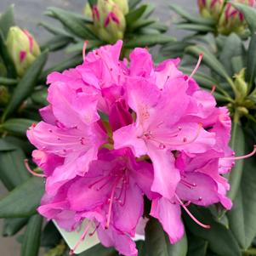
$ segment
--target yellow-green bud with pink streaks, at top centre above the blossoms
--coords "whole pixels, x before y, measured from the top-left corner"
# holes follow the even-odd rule
[[[115,43],[123,38],[126,28],[125,17],[113,0],[99,0],[92,12],[94,29],[102,40]]]

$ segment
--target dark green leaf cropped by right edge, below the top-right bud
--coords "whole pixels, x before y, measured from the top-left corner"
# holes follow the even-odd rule
[[[247,76],[247,82],[249,82],[250,88],[253,85],[253,82],[256,78],[256,34],[253,33],[251,37],[251,41],[249,44],[249,48],[247,51],[247,70],[246,70],[246,76]]]

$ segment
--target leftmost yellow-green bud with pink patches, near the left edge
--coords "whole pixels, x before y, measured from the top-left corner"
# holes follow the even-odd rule
[[[34,37],[18,26],[12,26],[9,29],[6,44],[9,56],[14,61],[17,74],[22,77],[40,54],[40,48]]]

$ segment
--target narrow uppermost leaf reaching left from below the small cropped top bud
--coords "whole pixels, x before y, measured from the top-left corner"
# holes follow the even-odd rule
[[[214,25],[215,21],[211,19],[205,19],[200,16],[191,15],[187,13],[184,8],[180,7],[178,4],[170,4],[170,9],[174,10],[176,14],[179,14],[183,19],[190,21],[190,23],[198,23],[202,25]]]

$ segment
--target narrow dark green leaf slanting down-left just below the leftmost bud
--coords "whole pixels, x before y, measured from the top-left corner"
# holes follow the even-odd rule
[[[37,83],[39,74],[41,73],[43,66],[48,58],[48,52],[45,51],[37,57],[37,60],[28,68],[24,77],[21,78],[17,87],[14,89],[14,94],[9,101],[9,105],[3,112],[2,121],[9,117],[22,103],[26,100],[27,96],[32,93],[34,86]]]

